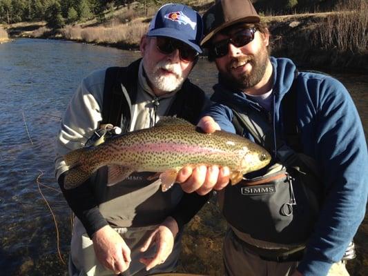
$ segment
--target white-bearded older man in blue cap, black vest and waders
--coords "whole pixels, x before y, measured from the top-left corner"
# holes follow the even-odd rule
[[[72,97],[57,136],[55,161],[59,185],[77,216],[70,275],[146,275],[153,267],[150,274],[175,269],[183,225],[207,197],[183,195],[180,186],[162,193],[159,184],[147,180],[149,172],[106,186],[107,168],[66,190],[64,155],[93,143],[87,139],[102,124],[128,132],[154,126],[164,115],[196,124],[206,97],[186,78],[201,52],[201,38],[197,12],[164,5],[140,41],[143,58],[124,68],[93,72]]]

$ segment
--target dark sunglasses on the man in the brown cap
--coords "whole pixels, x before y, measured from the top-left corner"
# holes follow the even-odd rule
[[[221,41],[213,43],[211,46],[210,54],[215,59],[219,57],[224,57],[229,52],[229,43],[233,44],[235,47],[242,47],[248,44],[249,42],[253,41],[254,33],[257,30],[255,28],[246,28],[241,30],[240,32],[236,32],[235,34],[231,35],[229,39],[223,39]]]

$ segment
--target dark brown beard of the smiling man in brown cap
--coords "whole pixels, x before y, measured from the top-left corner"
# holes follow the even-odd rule
[[[227,81],[227,84],[235,89],[246,90],[257,83],[259,83],[264,76],[264,72],[266,72],[267,63],[269,61],[269,53],[266,48],[260,50],[257,55],[248,55],[246,57],[242,57],[239,59],[234,59],[231,62],[231,66],[233,64],[241,63],[243,61],[251,63],[252,70],[250,73],[244,73],[240,78],[235,78],[231,74],[222,75]]]

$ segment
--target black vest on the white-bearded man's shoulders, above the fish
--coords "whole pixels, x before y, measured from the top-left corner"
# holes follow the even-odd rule
[[[128,132],[131,121],[131,108],[136,102],[139,64],[142,59],[133,61],[126,67],[107,68],[102,101],[102,121],[99,130],[88,139],[86,146],[97,146],[113,135]],[[175,116],[197,124],[197,119],[206,102],[204,92],[193,83],[184,81],[177,91],[165,116]],[[154,100],[155,105],[159,101]],[[117,128],[119,128],[117,132]]]

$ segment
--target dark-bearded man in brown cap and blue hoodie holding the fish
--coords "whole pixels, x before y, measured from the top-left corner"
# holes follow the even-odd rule
[[[215,166],[178,179],[188,193],[219,190],[225,275],[349,275],[368,195],[365,133],[349,92],[269,56],[269,31],[250,0],[216,1],[203,21],[201,45],[219,79],[198,126],[236,132],[273,155],[234,186],[229,168]]]

